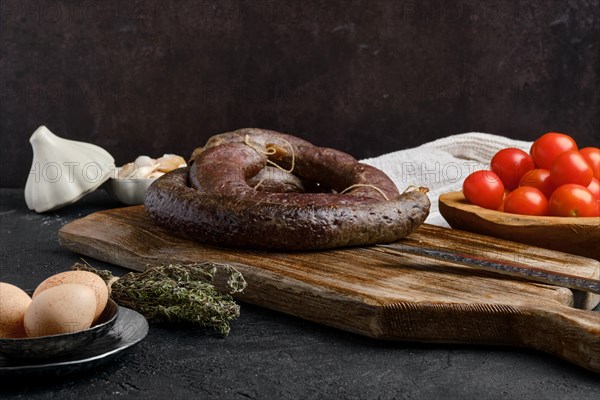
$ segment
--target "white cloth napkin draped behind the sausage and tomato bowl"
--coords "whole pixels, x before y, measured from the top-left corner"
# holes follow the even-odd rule
[[[385,172],[400,191],[411,185],[428,187],[431,211],[425,222],[447,227],[438,209],[440,194],[461,190],[471,172],[490,168],[490,161],[499,150],[516,147],[529,152],[531,144],[489,133],[469,132],[361,161]]]

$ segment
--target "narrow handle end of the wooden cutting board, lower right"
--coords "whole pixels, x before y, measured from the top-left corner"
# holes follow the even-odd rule
[[[524,345],[600,373],[600,312],[549,307],[528,314],[520,319]]]

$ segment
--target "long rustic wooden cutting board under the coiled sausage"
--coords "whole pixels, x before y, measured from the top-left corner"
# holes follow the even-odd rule
[[[284,253],[202,245],[157,228],[142,206],[73,221],[59,240],[137,271],[156,263],[229,263],[248,282],[237,299],[374,338],[527,346],[600,372],[600,313],[573,308],[593,308],[598,295],[377,247]],[[600,276],[596,260],[431,225],[402,242]]]

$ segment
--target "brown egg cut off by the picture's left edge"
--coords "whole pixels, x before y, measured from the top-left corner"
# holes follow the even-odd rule
[[[25,337],[23,316],[31,297],[10,283],[0,282],[0,337]]]

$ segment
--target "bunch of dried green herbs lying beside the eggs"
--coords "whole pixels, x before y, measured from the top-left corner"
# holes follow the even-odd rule
[[[227,264],[198,263],[149,265],[144,272],[130,272],[119,278],[89,264],[72,269],[90,271],[109,285],[111,297],[119,305],[134,309],[153,323],[187,324],[212,328],[226,336],[229,322],[240,315],[231,294],[246,287],[242,274]],[[213,285],[217,273],[228,274],[229,294]]]

